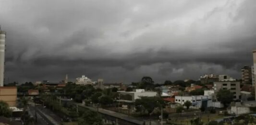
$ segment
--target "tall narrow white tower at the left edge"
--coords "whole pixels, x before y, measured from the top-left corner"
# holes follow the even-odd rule
[[[6,32],[2,31],[0,27],[0,87],[3,86],[3,83],[4,83],[5,37],[6,37]]]

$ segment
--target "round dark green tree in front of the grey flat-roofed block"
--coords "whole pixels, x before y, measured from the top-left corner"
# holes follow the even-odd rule
[[[217,99],[223,103],[224,107],[227,107],[227,104],[233,101],[233,93],[230,90],[219,90],[217,92]]]

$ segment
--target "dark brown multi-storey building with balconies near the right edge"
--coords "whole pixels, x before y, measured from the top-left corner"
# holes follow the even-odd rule
[[[252,82],[252,68],[249,66],[244,66],[242,69],[242,83],[251,83]]]

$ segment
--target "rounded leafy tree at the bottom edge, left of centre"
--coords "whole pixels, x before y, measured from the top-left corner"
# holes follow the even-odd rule
[[[102,118],[91,110],[86,110],[84,114],[78,118],[78,125],[103,125]]]

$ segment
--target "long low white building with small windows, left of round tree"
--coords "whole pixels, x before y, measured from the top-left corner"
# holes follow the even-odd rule
[[[199,109],[200,107],[212,107],[212,97],[211,96],[175,96],[175,102],[180,103],[181,105],[184,104],[184,102],[189,101],[192,103],[192,106],[190,108],[193,109]]]

